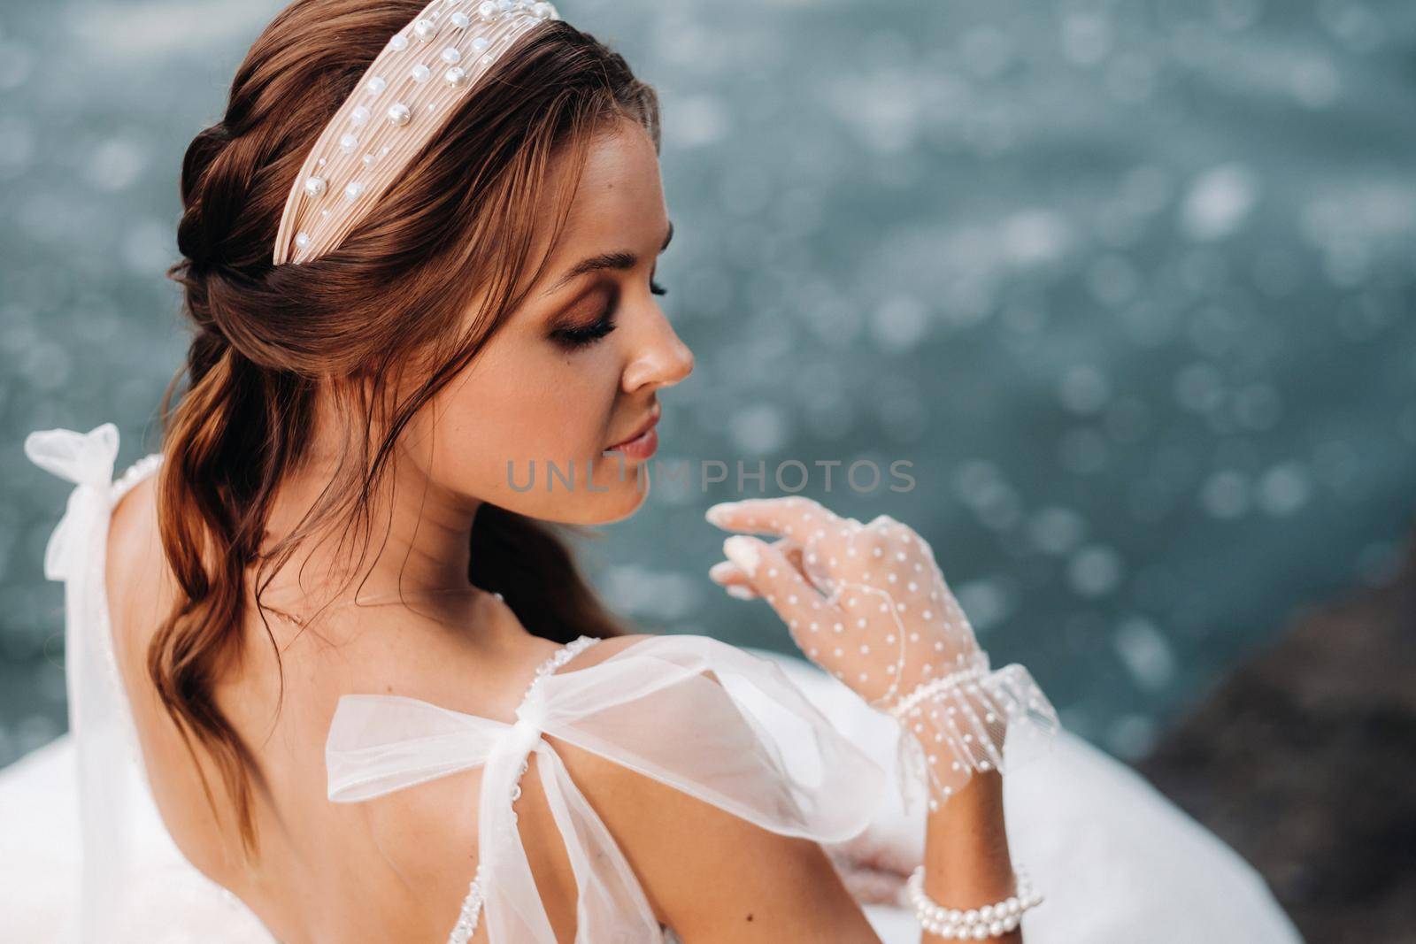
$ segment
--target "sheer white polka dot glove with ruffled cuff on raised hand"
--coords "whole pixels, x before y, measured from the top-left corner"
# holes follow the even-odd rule
[[[937,810],[974,770],[1010,770],[1058,729],[1021,665],[991,669],[933,551],[889,515],[841,518],[803,497],[714,505],[733,535],[709,573],[739,599],[763,597],[809,660],[901,720],[906,807],[925,780]],[[1007,756],[1004,742],[1007,740]]]

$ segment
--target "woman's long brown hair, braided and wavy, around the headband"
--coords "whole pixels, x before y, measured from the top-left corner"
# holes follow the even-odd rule
[[[178,601],[152,640],[147,671],[194,760],[193,737],[217,764],[248,855],[258,845],[252,778],[262,785],[263,778],[212,698],[222,669],[241,657],[248,569],[259,563],[253,599],[265,620],[261,590],[269,577],[262,576],[273,577],[321,525],[361,532],[364,559],[370,501],[401,430],[524,294],[515,286],[552,156],[583,167],[589,143],[612,117],[637,120],[656,150],[660,144],[653,89],[593,37],[549,20],[462,99],[338,249],[273,266],[280,212],[309,149],[388,38],[422,7],[423,0],[296,0],[251,47],[225,117],[197,134],[183,160],[183,259],[167,275],[183,287],[197,330],[163,396],[166,460],[157,483]],[[555,214],[552,241],[568,205],[569,198]],[[470,327],[460,327],[483,293]],[[408,372],[415,392],[395,402],[392,391],[404,389],[398,381]],[[187,391],[174,408],[184,375]],[[340,476],[302,526],[262,552],[276,490],[306,457],[321,385],[357,418]],[[548,640],[620,634],[562,529],[583,534],[483,504],[469,580],[500,592],[521,623]],[[215,810],[204,774],[202,785]]]

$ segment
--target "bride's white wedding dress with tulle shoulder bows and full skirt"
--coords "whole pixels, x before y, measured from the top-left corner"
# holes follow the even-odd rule
[[[25,451],[75,483],[44,562],[45,576],[65,583],[71,733],[0,771],[0,941],[270,944],[261,921],[188,865],[163,827],[113,661],[109,514],[161,454],[115,481],[112,423],[35,432]],[[447,916],[449,940],[466,940],[480,923],[494,944],[555,944],[513,808],[534,752],[579,889],[578,944],[678,941],[654,920],[542,733],[763,828],[827,846],[865,832],[920,859],[923,787],[901,780],[898,723],[817,667],[684,634],[556,671],[595,643],[581,637],[547,660],[513,725],[401,696],[340,699],[326,744],[331,801],[484,767],[479,875],[462,914]],[[1239,856],[1085,742],[1061,733],[1004,783],[1014,858],[1046,897],[1024,920],[1028,944],[1300,940]],[[906,910],[864,910],[885,944],[919,941]]]

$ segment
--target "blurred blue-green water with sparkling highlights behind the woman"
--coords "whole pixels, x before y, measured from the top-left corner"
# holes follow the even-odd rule
[[[157,447],[181,154],[280,6],[0,3],[0,764],[65,723],[41,559],[67,485],[21,440],[113,420],[120,468]],[[1391,572],[1416,507],[1409,0],[559,10],[661,95],[658,282],[698,362],[658,459],[731,473],[585,549],[643,628],[793,648],[708,582],[701,512],[739,460],[765,494],[796,460],[804,494],[918,528],[995,662],[1134,760]],[[915,487],[845,487],[858,460]]]

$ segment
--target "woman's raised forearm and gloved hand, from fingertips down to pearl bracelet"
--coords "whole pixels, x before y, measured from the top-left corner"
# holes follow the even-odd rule
[[[922,892],[967,913],[1018,890],[1008,856],[998,767],[1014,720],[1054,718],[1021,667],[990,671],[967,616],[929,543],[888,515],[841,518],[801,497],[714,505],[708,521],[735,534],[709,572],[735,596],[765,597],[809,660],[871,706],[888,710],[919,744],[930,814]],[[1048,725],[1041,725],[1046,727]],[[916,892],[918,894],[918,892]],[[971,934],[1018,944],[993,911],[964,921]],[[926,920],[925,924],[935,924]],[[926,944],[949,940],[923,931]]]

